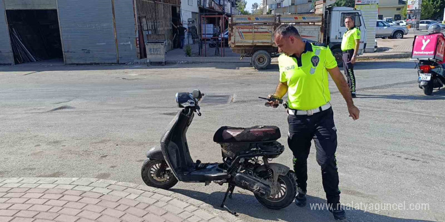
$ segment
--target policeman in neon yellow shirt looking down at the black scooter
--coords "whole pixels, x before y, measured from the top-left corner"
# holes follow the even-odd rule
[[[329,210],[334,218],[346,218],[340,207],[338,189],[337,130],[329,101],[328,73],[346,100],[349,116],[359,119],[359,109],[354,106],[348,85],[337,67],[335,58],[327,46],[305,42],[291,25],[281,25],[274,33],[279,52],[280,82],[272,96],[283,98],[288,92],[288,145],[294,156],[294,171],[298,186],[295,203],[306,205],[307,157],[310,141],[314,140],[317,162],[321,166],[323,188]],[[269,102],[273,107],[278,102]]]

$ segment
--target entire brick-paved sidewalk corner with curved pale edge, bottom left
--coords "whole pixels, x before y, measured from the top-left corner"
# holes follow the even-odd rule
[[[0,222],[242,222],[202,201],[94,178],[0,178]]]

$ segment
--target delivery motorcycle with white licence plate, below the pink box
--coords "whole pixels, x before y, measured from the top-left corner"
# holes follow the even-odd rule
[[[441,88],[445,83],[442,64],[434,60],[420,60],[417,64],[417,74],[419,75],[419,88],[423,89],[425,95],[432,95],[434,88]]]

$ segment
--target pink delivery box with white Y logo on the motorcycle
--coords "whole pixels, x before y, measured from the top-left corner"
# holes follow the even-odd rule
[[[434,59],[443,61],[445,52],[445,36],[442,33],[430,35],[416,35],[414,37],[413,59]]]

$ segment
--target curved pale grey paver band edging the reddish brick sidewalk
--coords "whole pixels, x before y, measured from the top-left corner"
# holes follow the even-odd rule
[[[20,192],[26,192],[29,189],[36,189],[36,190],[46,190],[46,191],[41,191],[44,193],[61,194],[64,191],[73,190],[76,192],[88,193],[89,195],[92,195],[91,197],[93,197],[94,194],[116,196],[125,199],[126,200],[125,202],[140,201],[140,203],[144,203],[146,205],[148,204],[147,206],[157,205],[157,203],[159,203],[158,206],[163,207],[160,204],[162,205],[165,204],[164,209],[167,212],[166,214],[174,213],[174,211],[171,211],[166,208],[167,205],[172,208],[175,208],[176,210],[178,208],[182,208],[181,209],[182,212],[185,214],[189,214],[189,217],[192,215],[194,215],[192,217],[198,216],[197,218],[199,219],[196,221],[243,222],[243,220],[239,219],[238,217],[232,215],[231,213],[225,210],[215,209],[210,204],[190,198],[180,193],[149,187],[146,185],[118,182],[113,180],[102,180],[96,178],[0,178],[0,190],[2,190],[2,188],[4,190],[6,189],[17,190],[13,192],[19,192],[19,190]],[[24,191],[25,189],[26,191]],[[1,191],[1,192],[9,192],[9,191]],[[0,209],[2,208],[0,207]],[[170,213],[168,211],[170,211]],[[191,221],[190,218],[189,219],[187,218],[183,217],[184,221],[186,220]],[[172,221],[169,219],[167,220]]]

